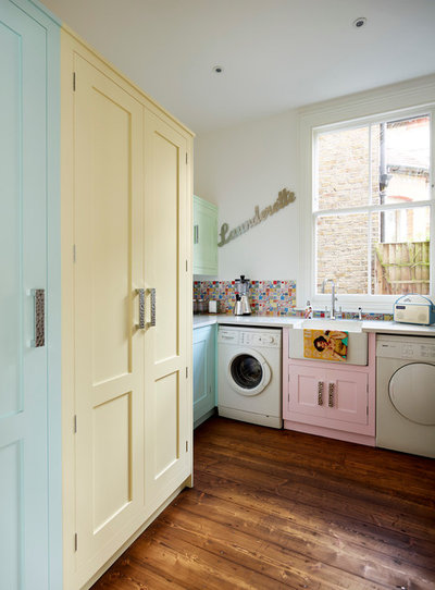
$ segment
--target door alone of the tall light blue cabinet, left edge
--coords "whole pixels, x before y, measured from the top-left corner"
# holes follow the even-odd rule
[[[0,1],[0,588],[48,588],[46,30]],[[45,320],[40,329],[45,328]],[[41,331],[40,331],[41,335]]]

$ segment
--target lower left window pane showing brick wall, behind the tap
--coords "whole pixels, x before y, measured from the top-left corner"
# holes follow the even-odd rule
[[[333,279],[338,293],[368,293],[369,213],[319,217],[316,220],[316,290]],[[325,292],[331,293],[331,285]]]

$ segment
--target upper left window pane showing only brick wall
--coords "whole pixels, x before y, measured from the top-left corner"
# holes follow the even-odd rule
[[[369,204],[369,126],[318,136],[318,194],[314,210]]]

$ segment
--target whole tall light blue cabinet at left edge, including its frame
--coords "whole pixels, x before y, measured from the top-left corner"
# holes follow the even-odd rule
[[[0,588],[4,590],[62,588],[59,54],[58,24],[37,3],[1,0]],[[44,290],[38,325],[33,290]]]

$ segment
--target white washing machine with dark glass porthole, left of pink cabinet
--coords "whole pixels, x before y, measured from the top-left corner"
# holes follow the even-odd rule
[[[283,427],[281,342],[281,329],[219,327],[220,416]]]

